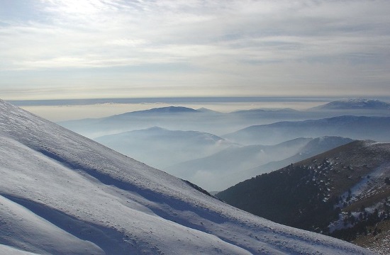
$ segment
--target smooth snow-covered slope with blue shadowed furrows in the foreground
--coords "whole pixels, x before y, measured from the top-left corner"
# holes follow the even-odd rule
[[[0,101],[0,254],[370,254],[284,227]]]

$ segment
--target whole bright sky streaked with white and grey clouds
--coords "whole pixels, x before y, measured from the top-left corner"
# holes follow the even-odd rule
[[[0,98],[390,96],[389,0],[0,0]]]

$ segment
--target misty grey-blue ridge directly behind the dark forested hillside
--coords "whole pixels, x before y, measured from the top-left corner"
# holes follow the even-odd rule
[[[208,157],[175,164],[164,170],[197,183],[208,191],[222,191],[239,181],[277,170],[351,141],[343,137],[305,137],[279,145],[229,147]]]

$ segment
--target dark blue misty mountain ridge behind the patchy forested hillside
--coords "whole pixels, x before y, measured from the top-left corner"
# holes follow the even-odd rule
[[[341,136],[390,142],[389,117],[339,116],[320,120],[284,121],[253,125],[222,137],[245,145],[274,145],[298,137]]]

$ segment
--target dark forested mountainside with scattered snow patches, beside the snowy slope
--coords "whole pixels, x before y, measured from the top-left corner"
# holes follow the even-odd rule
[[[390,220],[390,144],[355,141],[243,181],[217,194],[269,220],[352,241],[371,238]],[[389,228],[390,230],[390,228]],[[387,248],[386,248],[387,247]]]

